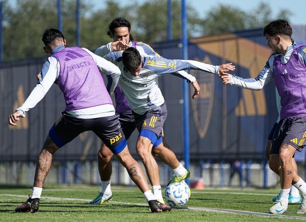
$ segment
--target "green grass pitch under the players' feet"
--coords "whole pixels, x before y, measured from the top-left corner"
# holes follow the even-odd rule
[[[204,189],[191,191],[188,206],[197,210],[173,209],[151,213],[142,193],[135,187],[113,186],[111,203],[88,205],[97,195],[96,186],[46,186],[38,213],[15,213],[27,199],[31,187],[0,186],[0,221],[296,221],[306,219],[289,205],[286,217],[211,212],[207,208],[267,213],[277,190]],[[288,217],[290,216],[290,217]]]

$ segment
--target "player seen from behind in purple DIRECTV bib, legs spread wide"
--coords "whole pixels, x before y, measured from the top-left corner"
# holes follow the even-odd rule
[[[16,212],[37,212],[46,176],[54,153],[84,131],[93,131],[115,154],[127,169],[148,201],[152,212],[171,210],[158,202],[145,179],[139,164],[130,155],[121,130],[118,115],[104,85],[100,72],[115,77],[120,70],[88,49],[67,47],[64,35],[56,29],[44,32],[44,50],[51,54],[42,67],[41,80],[25,103],[9,117],[9,124],[16,126],[21,117],[34,107],[51,85],[58,84],[64,94],[66,109],[50,129],[36,165],[32,195],[18,206]]]

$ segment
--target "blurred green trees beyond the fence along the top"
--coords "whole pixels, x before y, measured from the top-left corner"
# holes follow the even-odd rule
[[[181,38],[181,1],[172,0],[173,39]],[[49,0],[17,0],[16,8],[4,4],[4,60],[46,56],[42,50],[41,35],[48,28],[57,28],[57,2]],[[101,3],[102,4],[102,3]],[[102,9],[81,1],[81,46],[94,51],[112,41],[107,35],[108,24],[115,17],[131,22],[131,34],[138,41],[153,43],[167,40],[167,1],[133,0],[128,5],[119,0],[107,0]],[[251,12],[227,5],[219,5],[201,19],[195,9],[187,6],[188,35],[221,34],[249,28],[262,28],[272,19],[267,4],[261,3]],[[62,0],[63,33],[68,46],[76,44],[76,1]],[[279,18],[286,19],[290,12],[282,10]]]

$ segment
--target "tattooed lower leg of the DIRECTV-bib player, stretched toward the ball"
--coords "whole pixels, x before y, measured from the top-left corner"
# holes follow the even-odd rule
[[[119,154],[117,159],[126,168],[132,181],[138,186],[142,193],[148,191],[149,185],[145,179],[144,173],[136,160],[130,155],[127,146]]]

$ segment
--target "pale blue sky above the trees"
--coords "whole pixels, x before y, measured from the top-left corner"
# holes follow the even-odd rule
[[[84,3],[90,2],[96,9],[103,8],[106,0],[80,0]],[[135,0],[140,3],[143,0]],[[154,1],[154,0],[151,0]],[[165,0],[167,1],[167,0]],[[127,5],[132,1],[128,0],[114,0],[114,2],[120,3],[122,5]],[[252,9],[257,8],[259,3],[265,2],[270,6],[272,10],[272,18],[274,19],[282,9],[287,9],[292,12],[290,16],[290,24],[292,25],[306,25],[306,13],[305,13],[305,0],[186,0],[187,4],[193,6],[200,15],[204,18],[205,15],[212,9],[220,4],[230,5],[232,7],[237,7],[243,11],[250,12]],[[276,19],[276,18],[275,18]]]

